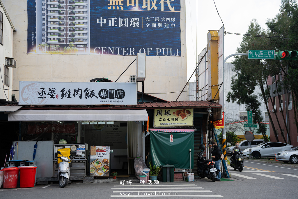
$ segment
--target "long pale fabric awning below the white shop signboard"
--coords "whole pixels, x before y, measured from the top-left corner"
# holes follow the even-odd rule
[[[8,121],[147,121],[145,109],[100,109],[100,110],[18,110],[8,115]]]

